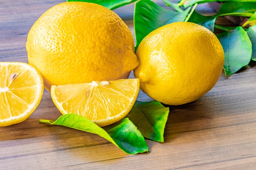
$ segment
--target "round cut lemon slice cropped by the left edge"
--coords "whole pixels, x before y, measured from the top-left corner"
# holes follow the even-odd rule
[[[43,78],[21,62],[0,62],[0,126],[17,124],[34,112],[43,95]]]

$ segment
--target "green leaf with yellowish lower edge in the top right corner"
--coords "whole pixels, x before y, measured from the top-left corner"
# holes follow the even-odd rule
[[[216,13],[215,16],[223,15],[234,15],[234,16],[244,16],[251,17],[256,11],[256,3],[250,2],[225,2],[221,5],[220,10]]]

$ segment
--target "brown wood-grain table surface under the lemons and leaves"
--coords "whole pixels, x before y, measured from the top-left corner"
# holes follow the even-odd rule
[[[0,62],[27,62],[27,33],[63,0],[0,3]],[[115,10],[134,34],[133,5]],[[143,94],[139,100],[148,100]],[[128,155],[87,132],[39,123],[61,113],[45,91],[26,121],[0,128],[0,170],[255,170],[256,67],[222,75],[195,102],[170,106],[164,143],[146,140],[150,153]]]

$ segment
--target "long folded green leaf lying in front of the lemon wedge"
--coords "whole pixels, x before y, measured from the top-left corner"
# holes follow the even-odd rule
[[[128,154],[148,152],[148,146],[141,132],[128,119],[124,118],[115,124],[103,128],[97,126],[89,119],[76,114],[66,114],[54,120],[39,120],[41,123],[66,126],[85,132],[97,134]]]

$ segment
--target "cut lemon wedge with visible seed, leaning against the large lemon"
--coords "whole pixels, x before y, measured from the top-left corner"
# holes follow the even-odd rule
[[[99,126],[113,124],[132,109],[139,93],[139,79],[119,79],[52,86],[52,100],[65,115],[74,113]]]

